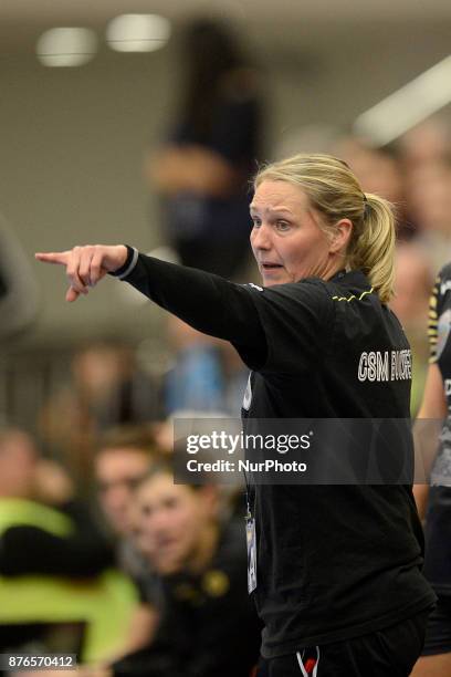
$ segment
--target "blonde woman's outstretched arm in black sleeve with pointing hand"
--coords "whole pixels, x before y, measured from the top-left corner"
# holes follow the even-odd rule
[[[35,257],[65,267],[70,302],[87,294],[111,273],[198,331],[248,347],[258,355],[256,363],[264,362],[266,340],[251,291],[245,285],[147,257],[124,244],[75,247]]]

